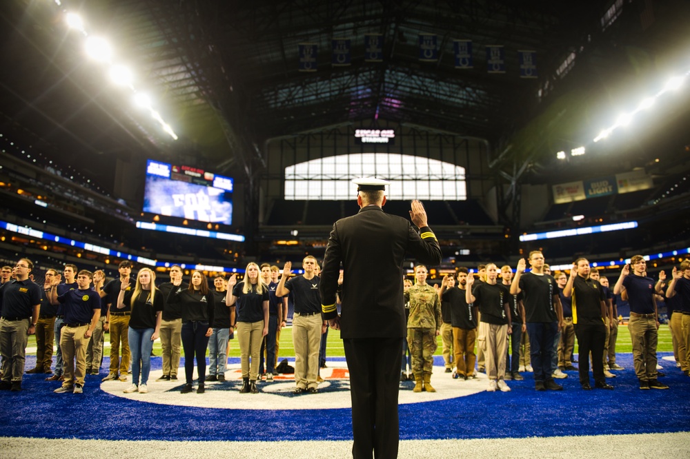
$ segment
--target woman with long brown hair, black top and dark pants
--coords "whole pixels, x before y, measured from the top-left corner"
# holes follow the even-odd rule
[[[184,349],[184,374],[186,384],[181,390],[182,394],[192,391],[194,376],[194,358],[197,358],[197,374],[199,386],[197,394],[204,394],[204,381],[206,380],[206,346],[208,338],[213,333],[213,309],[215,298],[208,288],[208,282],[204,273],[194,269],[190,278],[189,287],[181,289],[179,285],[182,278],[172,281],[172,290],[168,295],[168,303],[181,303],[182,309],[182,348]]]

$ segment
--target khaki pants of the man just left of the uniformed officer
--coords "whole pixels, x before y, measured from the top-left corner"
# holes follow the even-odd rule
[[[319,351],[321,350],[321,314],[303,316],[295,312],[293,317],[293,345],[295,346],[295,383],[307,389],[318,387]],[[258,372],[258,370],[257,370]]]

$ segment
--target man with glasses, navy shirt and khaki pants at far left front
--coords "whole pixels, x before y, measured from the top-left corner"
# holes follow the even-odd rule
[[[41,309],[41,287],[29,278],[33,267],[28,258],[20,258],[14,267],[14,281],[0,285],[0,390],[21,391],[26,344],[29,335],[36,332]]]

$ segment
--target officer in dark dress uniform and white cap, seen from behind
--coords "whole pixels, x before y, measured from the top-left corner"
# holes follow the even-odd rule
[[[341,330],[350,372],[353,457],[397,457],[397,371],[406,336],[402,263],[406,254],[438,265],[441,249],[428,227],[424,206],[412,201],[410,216],[388,215],[382,207],[386,181],[357,179],[359,212],[335,222],[326,247],[319,287],[324,318]],[[342,315],[335,294],[344,269]]]

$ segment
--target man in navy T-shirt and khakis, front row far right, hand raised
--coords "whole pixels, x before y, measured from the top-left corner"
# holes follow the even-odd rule
[[[630,268],[633,268],[631,274]],[[659,316],[654,298],[654,281],[645,276],[647,261],[635,255],[621,269],[613,287],[613,294],[626,292],[630,305],[628,331],[633,344],[633,365],[640,380],[640,389],[668,389],[657,380],[656,345],[658,342]],[[580,362],[582,367],[582,362]]]

